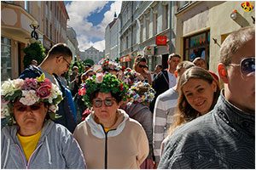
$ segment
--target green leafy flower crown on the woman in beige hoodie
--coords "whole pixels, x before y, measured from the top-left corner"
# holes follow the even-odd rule
[[[83,85],[83,88],[79,89],[79,95],[83,96],[84,103],[88,107],[90,105],[90,95],[95,91],[100,90],[100,92],[108,94],[109,92],[113,94],[119,93],[119,96],[123,96],[123,100],[126,100],[126,92],[128,90],[128,86],[120,81],[113,74],[102,74],[97,73],[96,76],[90,77],[86,80]]]

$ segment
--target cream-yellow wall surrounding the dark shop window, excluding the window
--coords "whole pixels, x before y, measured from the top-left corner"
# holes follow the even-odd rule
[[[177,16],[176,53],[183,54],[183,37],[189,37],[201,31],[210,30],[209,70],[218,75],[219,49],[232,31],[241,27],[254,26],[252,16],[255,17],[255,2],[252,12],[245,12],[241,8],[244,1],[201,1],[190,4],[189,8],[179,12]],[[237,18],[232,20],[230,14],[236,9]],[[214,43],[212,38],[217,40]]]

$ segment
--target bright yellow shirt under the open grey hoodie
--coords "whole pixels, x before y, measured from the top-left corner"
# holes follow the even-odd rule
[[[29,160],[33,151],[36,149],[38,140],[41,137],[41,133],[42,133],[42,129],[38,133],[32,136],[20,136],[20,134],[17,133],[18,139],[20,140],[21,147],[26,156],[26,161]]]

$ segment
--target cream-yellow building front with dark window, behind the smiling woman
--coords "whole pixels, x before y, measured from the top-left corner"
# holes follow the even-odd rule
[[[210,71],[218,75],[219,49],[233,31],[254,26],[255,10],[246,11],[239,1],[187,2],[177,11],[176,52],[184,60],[202,57]],[[255,8],[255,2],[250,2]],[[236,18],[231,14],[236,12]]]

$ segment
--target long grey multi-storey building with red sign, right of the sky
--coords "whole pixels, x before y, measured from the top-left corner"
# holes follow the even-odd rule
[[[176,10],[177,2],[172,1],[123,2],[120,13],[120,62],[124,61],[123,65],[132,67],[137,54],[142,54],[148,58],[149,71],[153,71],[157,64],[166,68],[168,54],[175,52],[176,18],[173,16]],[[166,45],[157,45],[157,37],[166,37]]]

